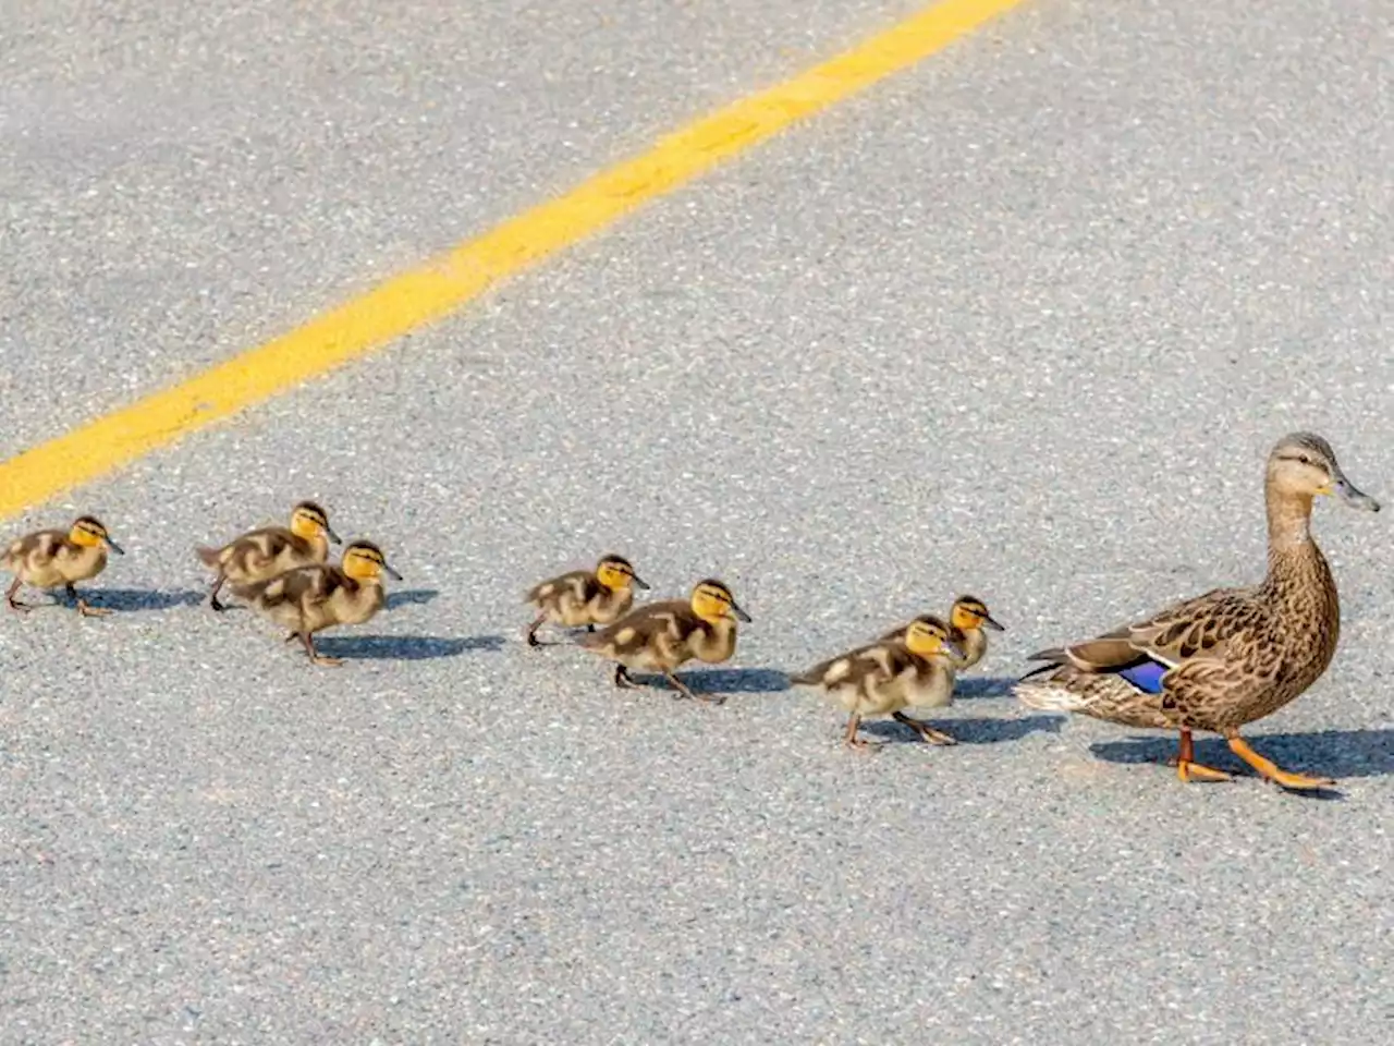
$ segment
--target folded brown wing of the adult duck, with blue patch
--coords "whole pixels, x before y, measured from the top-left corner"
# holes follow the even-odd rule
[[[1264,615],[1252,589],[1214,589],[1131,625],[1080,643],[1041,650],[1027,675],[1069,665],[1080,672],[1117,672],[1146,693],[1160,693],[1163,676],[1182,664],[1220,660],[1252,635]]]

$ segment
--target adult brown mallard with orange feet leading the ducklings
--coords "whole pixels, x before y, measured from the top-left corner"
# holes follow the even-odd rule
[[[1334,494],[1379,512],[1322,437],[1295,432],[1269,455],[1269,572],[1249,589],[1216,589],[1096,639],[1043,650],[1016,695],[1033,708],[1072,711],[1125,727],[1181,734],[1182,781],[1230,774],[1195,761],[1192,731],[1223,735],[1239,759],[1284,788],[1333,781],[1280,770],[1239,736],[1306,690],[1335,653],[1341,607],[1331,570],[1312,538],[1313,498]],[[1047,674],[1041,679],[1033,675]]]

